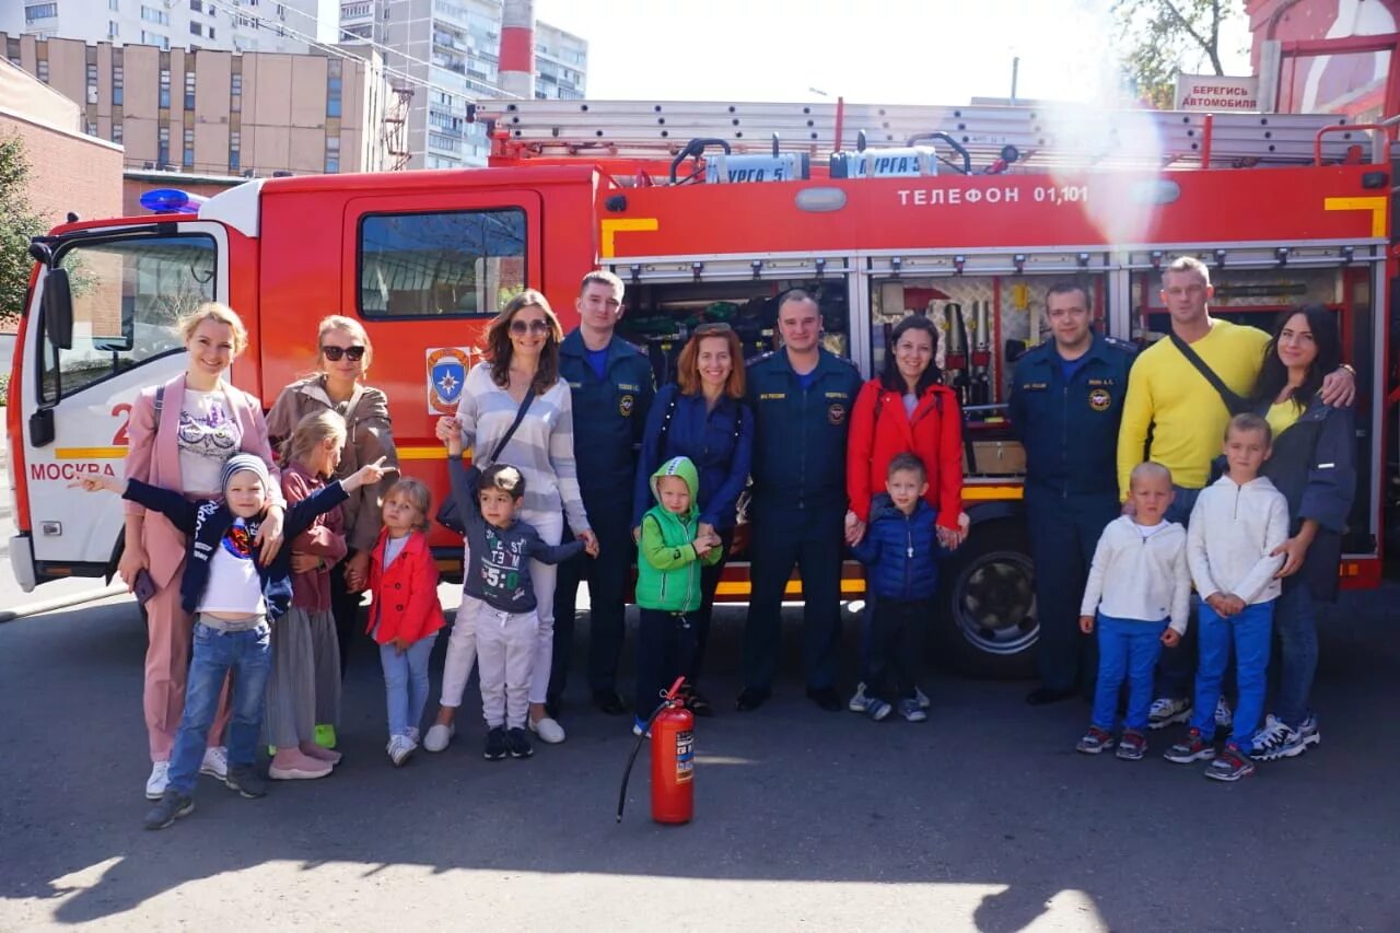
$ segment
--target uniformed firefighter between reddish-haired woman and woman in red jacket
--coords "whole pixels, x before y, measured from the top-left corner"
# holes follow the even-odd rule
[[[802,671],[806,693],[837,712],[836,649],[841,628],[846,546],[846,434],[861,378],[820,346],[816,298],[792,289],[778,301],[783,349],[749,366],[755,413],[749,572],[753,593],[743,632],[743,691],[753,710],[773,693],[783,593],[802,577]]]

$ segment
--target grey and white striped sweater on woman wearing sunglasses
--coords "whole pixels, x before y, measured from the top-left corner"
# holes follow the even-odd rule
[[[501,436],[515,420],[519,403],[491,381],[491,364],[477,363],[466,374],[456,419],[462,423],[462,445],[470,447],[483,469]],[[500,462],[510,464],[525,476],[525,520],[531,516],[559,514],[560,509],[574,534],[588,530],[588,514],[578,492],[574,464],[574,409],[568,382],[560,380],[531,402],[525,420],[515,429],[501,451]]]

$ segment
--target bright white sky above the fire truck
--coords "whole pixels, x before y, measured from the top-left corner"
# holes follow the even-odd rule
[[[535,0],[588,41],[595,99],[966,104],[1016,94],[1107,101],[1109,0]],[[1247,28],[1222,46],[1249,74]]]

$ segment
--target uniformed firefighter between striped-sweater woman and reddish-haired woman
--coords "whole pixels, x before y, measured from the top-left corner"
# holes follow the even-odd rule
[[[630,706],[617,695],[627,586],[637,546],[631,539],[631,488],[637,445],[655,394],[651,361],[615,333],[623,315],[623,284],[610,272],[589,272],[578,293],[578,328],[559,347],[560,375],[574,408],[574,461],[598,558],[582,555],[559,567],[554,587],[554,661],[547,706],[559,709],[574,643],[578,584],[588,580],[588,686],[594,705],[617,716]]]

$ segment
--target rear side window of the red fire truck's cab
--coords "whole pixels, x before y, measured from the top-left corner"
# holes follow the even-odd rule
[[[525,212],[370,214],[360,221],[360,314],[496,314],[525,287]]]

